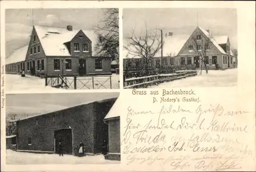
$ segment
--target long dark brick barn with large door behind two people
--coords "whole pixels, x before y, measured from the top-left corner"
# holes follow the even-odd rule
[[[62,140],[65,154],[72,154],[80,141],[84,143],[86,154],[101,154],[103,140],[109,140],[109,128],[104,117],[116,99],[13,120],[17,128],[17,150],[56,153],[56,145]]]

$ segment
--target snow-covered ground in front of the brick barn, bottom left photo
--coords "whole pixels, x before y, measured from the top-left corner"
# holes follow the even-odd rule
[[[118,164],[120,161],[105,160],[103,155],[75,157],[73,155],[34,154],[6,150],[6,164]]]

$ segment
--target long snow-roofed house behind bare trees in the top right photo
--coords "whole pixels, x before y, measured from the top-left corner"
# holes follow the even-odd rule
[[[124,46],[129,47],[129,42],[124,40]],[[221,69],[232,68],[236,59],[233,57],[230,46],[228,36],[214,36],[209,30],[206,31],[201,27],[197,27],[191,35],[175,35],[172,32],[166,32],[163,34],[162,56],[159,50],[154,58],[148,60],[147,65],[148,68],[173,66],[184,69],[201,66],[205,68],[202,65],[202,57],[205,57],[207,69],[216,69],[216,64]],[[203,56],[199,53],[203,53]],[[145,68],[145,59],[133,56],[125,49],[123,57],[124,69]]]

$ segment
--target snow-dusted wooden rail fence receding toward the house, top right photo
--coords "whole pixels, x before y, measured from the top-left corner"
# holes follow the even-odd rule
[[[196,70],[178,71],[177,73],[159,74],[147,77],[125,79],[123,88],[147,88],[148,86],[158,85],[163,82],[170,82],[197,75]]]

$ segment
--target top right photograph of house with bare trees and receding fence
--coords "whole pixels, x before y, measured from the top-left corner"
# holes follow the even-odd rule
[[[123,88],[232,87],[237,10],[123,9]]]

